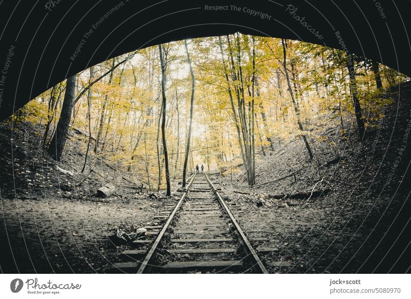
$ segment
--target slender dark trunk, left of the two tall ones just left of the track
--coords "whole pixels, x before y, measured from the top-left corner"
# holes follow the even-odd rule
[[[163,139],[163,151],[164,151],[164,164],[165,164],[165,182],[167,184],[166,196],[171,195],[171,185],[170,185],[170,169],[169,169],[169,153],[167,152],[167,140],[165,137],[165,117],[167,113],[167,105],[165,98],[165,66],[163,58],[163,47],[161,44],[158,45],[160,51],[160,64],[161,64],[161,95],[163,97],[162,101],[162,121],[161,121],[161,135]]]

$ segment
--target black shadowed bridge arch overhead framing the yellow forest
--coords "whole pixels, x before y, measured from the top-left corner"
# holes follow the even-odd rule
[[[378,4],[78,0],[47,6],[35,0],[3,2],[0,57],[4,65],[0,67],[7,69],[0,78],[0,119],[72,74],[107,59],[159,43],[234,32],[346,47],[410,76],[409,26],[400,12],[409,11],[411,4],[385,0]]]

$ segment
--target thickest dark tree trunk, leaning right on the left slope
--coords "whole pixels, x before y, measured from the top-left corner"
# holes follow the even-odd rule
[[[67,79],[66,92],[64,94],[60,119],[57,123],[57,128],[47,151],[51,158],[56,161],[61,161],[64,145],[67,140],[68,126],[71,120],[71,111],[74,105],[74,98],[76,97],[76,79],[77,75],[71,76]]]

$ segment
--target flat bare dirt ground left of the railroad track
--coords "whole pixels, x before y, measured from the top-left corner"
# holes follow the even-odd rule
[[[155,204],[160,202],[2,199],[2,271],[104,273],[121,252],[109,238],[114,229],[151,223]]]

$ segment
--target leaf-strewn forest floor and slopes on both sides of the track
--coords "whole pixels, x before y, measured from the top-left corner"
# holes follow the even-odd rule
[[[300,140],[279,144],[258,161],[256,186],[246,185],[240,168],[233,179],[230,171],[217,176],[224,195],[242,205],[236,218],[245,232],[268,237],[278,249],[267,259],[288,261],[288,267],[272,272],[409,271],[401,263],[409,237],[393,239],[409,225],[411,211],[406,200],[411,180],[402,176],[411,157],[408,145],[401,154],[407,163],[391,171],[411,127],[411,86],[401,88],[401,96],[389,91],[395,101],[386,107],[381,129],[370,129],[363,143],[353,126],[344,135],[330,129],[328,141],[311,141],[312,162]],[[13,131],[10,124],[0,125],[0,270],[103,273],[122,251],[113,242],[116,228],[156,225],[158,207],[175,202],[178,193],[164,199],[141,190],[118,165],[94,154],[81,173],[84,154],[76,132],[56,163],[42,154],[38,132],[31,124]],[[108,182],[116,186],[115,195],[98,197],[97,188]],[[172,189],[177,188],[173,180]]]

